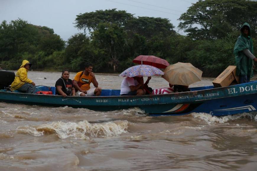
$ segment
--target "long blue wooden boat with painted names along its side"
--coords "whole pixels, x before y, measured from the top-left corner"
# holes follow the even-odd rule
[[[55,87],[38,86],[42,91]],[[204,86],[191,88],[189,92],[119,96],[120,90],[103,90],[98,97],[27,94],[0,90],[0,101],[6,103],[24,103],[44,106],[71,106],[88,108],[95,111],[113,111],[138,107],[149,115],[185,115],[192,112],[204,112],[214,116],[253,112],[257,108],[257,81],[250,83],[214,88]]]

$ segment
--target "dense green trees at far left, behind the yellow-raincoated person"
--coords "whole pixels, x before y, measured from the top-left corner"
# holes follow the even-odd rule
[[[0,59],[6,69],[17,69],[23,59],[33,68],[45,68],[44,58],[64,49],[64,41],[48,27],[28,24],[22,19],[4,20],[0,25]]]

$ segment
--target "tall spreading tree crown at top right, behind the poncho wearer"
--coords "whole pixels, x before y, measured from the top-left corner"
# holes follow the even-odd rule
[[[194,39],[217,39],[248,22],[255,37],[256,7],[249,0],[199,0],[180,16],[179,27]]]

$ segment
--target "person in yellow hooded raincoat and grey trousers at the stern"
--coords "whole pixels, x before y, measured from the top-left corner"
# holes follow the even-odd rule
[[[35,83],[28,79],[28,70],[31,67],[31,63],[27,60],[22,61],[22,65],[17,71],[11,88],[13,90],[24,91],[26,93],[35,93]]]

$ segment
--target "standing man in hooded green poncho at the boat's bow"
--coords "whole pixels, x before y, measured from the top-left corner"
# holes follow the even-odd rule
[[[235,62],[237,66],[236,75],[239,75],[240,84],[248,83],[253,74],[253,60],[257,58],[253,55],[253,40],[251,38],[251,27],[244,23],[240,29],[241,35],[234,47]]]

